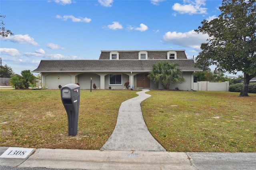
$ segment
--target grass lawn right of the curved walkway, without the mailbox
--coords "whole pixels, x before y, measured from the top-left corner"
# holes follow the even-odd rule
[[[150,91],[142,112],[170,152],[256,152],[256,94]]]

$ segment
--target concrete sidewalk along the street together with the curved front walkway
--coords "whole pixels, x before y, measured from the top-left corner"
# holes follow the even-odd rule
[[[148,131],[140,103],[150,97],[142,90],[124,101],[114,132],[101,150],[34,149],[26,158],[15,158],[0,147],[0,169],[34,167],[86,170],[254,170],[256,153],[166,152]],[[7,150],[8,149],[8,150]],[[18,150],[17,148],[15,148]],[[21,148],[22,150],[22,148]],[[13,155],[6,158],[3,153]],[[25,152],[24,152],[25,153]]]

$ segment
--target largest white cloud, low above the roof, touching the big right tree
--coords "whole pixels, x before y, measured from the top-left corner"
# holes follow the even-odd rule
[[[167,44],[180,45],[182,47],[194,48],[196,51],[200,51],[201,43],[206,42],[208,39],[207,34],[196,33],[194,30],[189,32],[166,32],[163,36],[163,40]]]

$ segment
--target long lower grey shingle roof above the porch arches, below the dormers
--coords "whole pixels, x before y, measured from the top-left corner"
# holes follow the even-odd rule
[[[105,71],[151,71],[159,61],[178,63],[182,71],[200,71],[193,59],[175,60],[41,60],[34,72],[105,72]]]

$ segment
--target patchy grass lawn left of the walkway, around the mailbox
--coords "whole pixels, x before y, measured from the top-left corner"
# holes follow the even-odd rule
[[[60,90],[0,89],[0,146],[100,149],[112,134],[131,90],[82,90],[78,134],[68,136]]]

